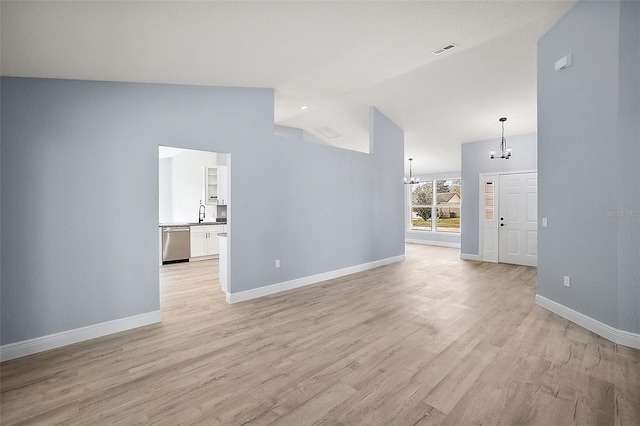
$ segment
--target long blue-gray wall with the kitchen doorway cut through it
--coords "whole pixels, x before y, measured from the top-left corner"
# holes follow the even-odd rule
[[[1,91],[2,344],[159,309],[158,145],[232,154],[233,293],[404,253],[403,133],[376,110],[363,154],[274,136],[270,89]]]

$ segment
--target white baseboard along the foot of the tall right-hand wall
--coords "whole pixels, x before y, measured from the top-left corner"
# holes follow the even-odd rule
[[[610,325],[588,317],[585,314],[581,314],[578,311],[567,308],[566,306],[561,305],[558,302],[554,302],[551,299],[547,299],[544,296],[540,296],[539,294],[536,294],[536,305],[545,308],[556,315],[560,315],[562,318],[576,323],[579,326],[612,341],[613,343],[640,349],[640,334],[618,330],[617,328],[613,328]]]

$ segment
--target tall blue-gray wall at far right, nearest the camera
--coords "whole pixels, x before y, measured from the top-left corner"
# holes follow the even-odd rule
[[[640,332],[640,9],[580,2],[538,43],[538,293]],[[573,54],[573,65],[554,63]],[[622,216],[619,214],[622,213]],[[571,287],[562,285],[563,275]]]

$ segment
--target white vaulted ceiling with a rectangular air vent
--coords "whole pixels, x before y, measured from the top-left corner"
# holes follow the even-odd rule
[[[507,138],[536,130],[536,42],[573,4],[2,1],[0,64],[7,76],[272,87],[276,123],[361,151],[373,105],[405,130],[414,172],[455,171],[461,143],[498,146],[499,117]]]

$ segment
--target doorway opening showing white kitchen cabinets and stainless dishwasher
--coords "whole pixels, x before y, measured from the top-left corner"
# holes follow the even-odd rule
[[[230,154],[159,146],[158,173],[161,278],[171,266],[177,273],[209,271],[203,279],[225,291],[221,278],[228,270]]]

